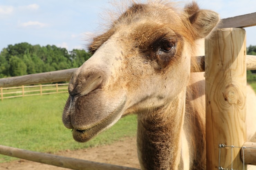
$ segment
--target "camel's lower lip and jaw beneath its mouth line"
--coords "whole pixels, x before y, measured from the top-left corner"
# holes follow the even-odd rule
[[[126,99],[119,104],[119,106],[112,111],[107,118],[104,120],[100,120],[97,124],[93,127],[88,129],[75,129],[72,130],[72,135],[75,141],[77,142],[86,142],[89,141],[91,138],[96,136],[101,131],[111,127],[115,124],[122,116],[122,110],[125,106]]]

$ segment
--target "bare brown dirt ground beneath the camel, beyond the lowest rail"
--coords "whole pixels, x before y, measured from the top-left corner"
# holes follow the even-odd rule
[[[131,168],[140,168],[136,138],[126,138],[111,145],[88,148],[76,151],[61,151],[56,155],[78,158],[83,160],[110,163]],[[8,163],[0,163],[0,170],[68,170],[66,168],[55,167],[47,164],[16,160]]]

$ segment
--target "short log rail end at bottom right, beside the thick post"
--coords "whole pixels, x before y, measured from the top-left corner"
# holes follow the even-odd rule
[[[245,142],[243,147],[245,147],[245,149],[244,151],[243,149],[241,150],[241,159],[245,159],[245,164],[256,165],[256,143]],[[244,155],[245,158],[243,158]]]

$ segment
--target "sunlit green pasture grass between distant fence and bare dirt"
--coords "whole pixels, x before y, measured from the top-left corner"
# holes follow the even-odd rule
[[[54,153],[110,144],[136,136],[136,116],[119,120],[113,127],[86,143],[75,142],[62,123],[66,93],[0,101],[0,144],[26,150]],[[13,160],[0,155],[0,163]]]

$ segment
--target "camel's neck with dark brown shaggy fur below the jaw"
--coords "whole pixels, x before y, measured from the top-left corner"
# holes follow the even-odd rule
[[[185,90],[169,105],[138,114],[137,146],[142,169],[180,169]],[[182,168],[183,169],[183,168]]]

